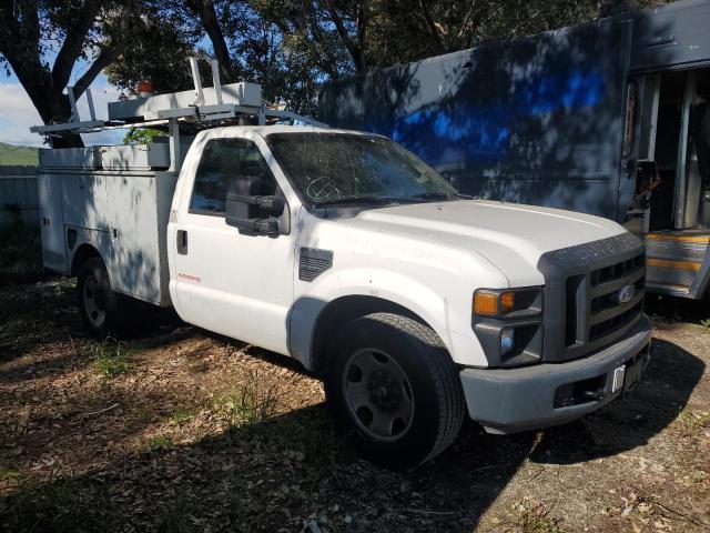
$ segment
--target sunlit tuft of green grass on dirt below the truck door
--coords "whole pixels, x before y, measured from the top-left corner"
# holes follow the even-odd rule
[[[250,373],[236,390],[214,398],[219,416],[230,428],[264,422],[276,413],[276,405],[275,386],[258,373]]]

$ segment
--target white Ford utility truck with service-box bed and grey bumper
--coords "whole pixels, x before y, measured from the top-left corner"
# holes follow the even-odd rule
[[[359,132],[209,129],[179,177],[165,147],[42,153],[44,262],[85,325],[115,331],[131,296],[295,358],[378,461],[434,457],[466,414],[572,421],[649,361],[643,248],[613,222],[462,197]]]

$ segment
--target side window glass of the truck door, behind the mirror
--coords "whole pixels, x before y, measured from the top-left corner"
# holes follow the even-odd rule
[[[258,147],[247,139],[213,139],[197,165],[190,212],[224,215],[226,193],[267,195],[276,181]]]

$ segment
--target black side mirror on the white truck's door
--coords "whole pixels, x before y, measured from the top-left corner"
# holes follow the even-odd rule
[[[227,193],[225,205],[225,222],[250,233],[277,235],[280,230],[278,217],[284,211],[284,200],[281,197],[247,197]],[[270,218],[260,219],[263,213]]]

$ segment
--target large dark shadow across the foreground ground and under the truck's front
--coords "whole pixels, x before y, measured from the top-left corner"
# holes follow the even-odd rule
[[[261,350],[252,355],[280,360]],[[676,419],[703,370],[689,352],[656,340],[632,399],[540,434],[493,436],[467,424],[443,455],[406,472],[358,460],[321,404],[24,486],[0,501],[0,524],[7,531],[298,531],[316,520],[329,531],[471,531],[524,462],[580,463],[647,443]]]

